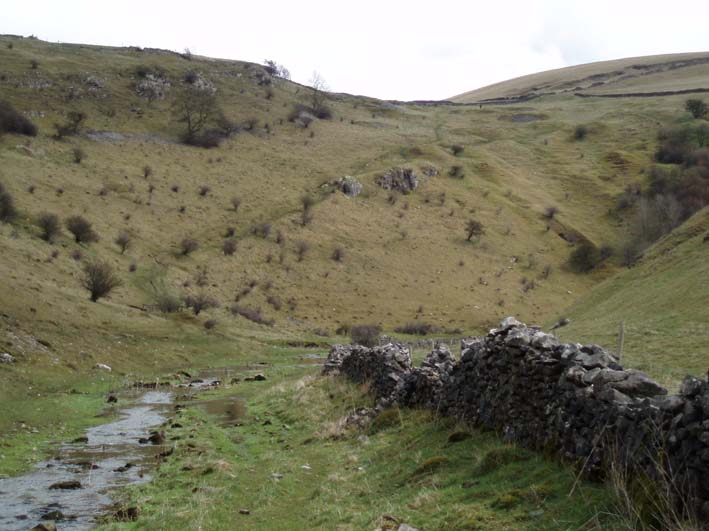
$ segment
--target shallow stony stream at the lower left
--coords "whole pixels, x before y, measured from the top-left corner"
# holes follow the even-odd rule
[[[165,422],[171,402],[168,392],[147,392],[137,405],[120,409],[115,422],[87,430],[88,443],[63,444],[53,459],[38,463],[32,472],[0,479],[0,529],[25,531],[49,511],[63,513],[64,519],[57,520],[61,531],[91,529],[112,503],[112,489],[150,480],[144,468],[164,448],[138,439]],[[79,481],[82,488],[49,488],[64,481]]]

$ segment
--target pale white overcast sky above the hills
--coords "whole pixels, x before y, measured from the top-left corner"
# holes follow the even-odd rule
[[[591,61],[709,51],[709,2],[3,0],[0,32],[283,63],[338,92],[442,99]]]

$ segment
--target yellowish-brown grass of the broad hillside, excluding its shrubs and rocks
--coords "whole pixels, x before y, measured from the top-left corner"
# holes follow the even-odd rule
[[[0,268],[12,278],[0,286],[5,313],[11,318],[3,326],[42,334],[62,361],[79,368],[87,365],[77,363],[76,349],[70,348],[67,331],[72,329],[82,330],[82,341],[96,345],[104,343],[102,338],[117,323],[138,335],[146,325],[201,335],[198,326],[203,319],[216,317],[221,333],[250,334],[253,327],[229,316],[227,307],[251,279],[272,280],[271,291],[282,301],[296,301],[294,310],[284,304],[275,311],[265,304],[263,289],[255,289],[243,301],[264,308],[276,318],[279,333],[286,335],[314,327],[332,331],[338,324],[357,321],[379,321],[392,328],[414,319],[419,306],[424,309],[421,319],[471,332],[491,325],[502,313],[528,321],[548,320],[612,268],[591,277],[567,272],[563,264],[570,248],[555,231],[545,231],[541,212],[558,205],[559,220],[569,230],[597,243],[617,241],[622,222],[608,216],[608,208],[646,163],[656,120],[681,106],[680,99],[643,102],[639,110],[618,102],[598,105],[556,98],[533,107],[480,110],[392,107],[342,98],[332,103],[334,120],[299,130],[280,120],[305,89],[281,84],[268,100],[253,79],[258,68],[253,65],[188,62],[175,54],[34,40],[14,40],[9,50],[8,39],[2,41],[0,57],[7,72],[0,84],[2,97],[21,110],[42,113],[36,118],[42,130],[39,137],[0,139],[2,179],[22,212],[15,227],[0,228],[7,249]],[[29,69],[32,58],[39,61],[37,70]],[[257,134],[240,134],[212,151],[172,143],[179,126],[171,120],[169,103],[148,105],[131,88],[132,72],[141,64],[160,65],[174,83],[189,69],[202,71],[217,85],[230,118],[268,121],[272,133],[259,128]],[[70,87],[86,89],[81,81],[86,74],[101,79],[104,89],[96,96],[84,93],[67,101]],[[30,79],[51,84],[30,89],[26,86]],[[135,107],[143,114],[130,111]],[[122,142],[85,137],[57,142],[50,138],[51,126],[70,108],[88,113],[90,129],[144,136]],[[544,119],[510,120],[520,113]],[[579,122],[591,128],[581,143],[571,140]],[[633,142],[627,142],[629,137]],[[17,147],[26,142],[31,156]],[[450,154],[449,146],[455,143],[466,146],[459,157]],[[71,160],[75,145],[87,153],[81,164]],[[619,152],[619,145],[627,160],[622,167],[608,158]],[[142,176],[145,164],[154,170],[148,179]],[[373,184],[376,174],[391,166],[426,164],[437,166],[441,175],[394,206]],[[463,166],[464,180],[446,176],[454,164]],[[322,195],[313,223],[300,227],[300,195],[315,193],[322,182],[344,174],[365,183],[364,196]],[[152,196],[150,184],[155,186]],[[30,185],[35,187],[33,194],[27,192]],[[171,192],[172,185],[178,185],[179,192]],[[201,185],[211,187],[207,197],[198,196]],[[58,195],[60,188],[64,192]],[[99,195],[102,188],[107,195]],[[444,205],[438,199],[442,193]],[[235,195],[243,199],[238,213],[229,202]],[[186,209],[183,214],[181,206]],[[94,222],[101,241],[77,246],[64,235],[56,245],[47,245],[36,238],[31,223],[44,210],[61,217],[82,213]],[[463,227],[470,217],[480,219],[487,229],[477,244],[464,239]],[[249,234],[254,224],[265,221],[272,223],[274,232],[284,232],[283,249],[273,236],[261,240]],[[228,226],[236,228],[240,240],[235,257],[220,253]],[[125,256],[112,243],[121,229],[134,235],[135,244]],[[177,243],[188,236],[200,242],[200,250],[187,258],[176,257]],[[302,263],[294,256],[298,240],[311,246]],[[330,259],[336,246],[346,249],[341,264]],[[110,301],[85,302],[78,284],[80,265],[69,257],[76,248],[86,256],[108,259],[122,272],[124,286]],[[55,249],[59,256],[48,261]],[[281,252],[284,264],[279,263]],[[530,254],[537,264],[531,269],[524,265]],[[133,262],[138,271],[129,274],[126,270]],[[547,264],[554,269],[552,278],[524,293],[521,279],[537,278]],[[128,306],[152,302],[154,286],[177,293],[195,291],[194,275],[202,267],[209,273],[205,289],[222,302],[221,309],[204,318],[166,320]],[[487,280],[486,286],[480,277]],[[189,289],[182,288],[186,281],[193,284]],[[41,297],[28,305],[27,293]],[[101,325],[109,320],[110,325]],[[15,354],[17,349],[11,350]],[[121,366],[124,360],[119,356],[117,363]]]

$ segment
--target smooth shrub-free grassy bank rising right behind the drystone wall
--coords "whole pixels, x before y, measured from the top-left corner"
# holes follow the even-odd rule
[[[670,386],[709,368],[709,208],[696,213],[632,269],[569,310],[564,339],[614,347],[625,322],[623,362]]]

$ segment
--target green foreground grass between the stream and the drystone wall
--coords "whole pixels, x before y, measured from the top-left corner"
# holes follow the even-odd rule
[[[387,516],[420,529],[619,528],[601,485],[582,482],[569,497],[572,469],[491,433],[449,444],[450,419],[411,410],[368,436],[342,432],[337,420],[371,403],[362,388],[292,370],[269,378],[201,397],[242,397],[241,426],[188,407],[169,431],[173,456],[126,494],[139,520],[100,529],[360,530]]]

